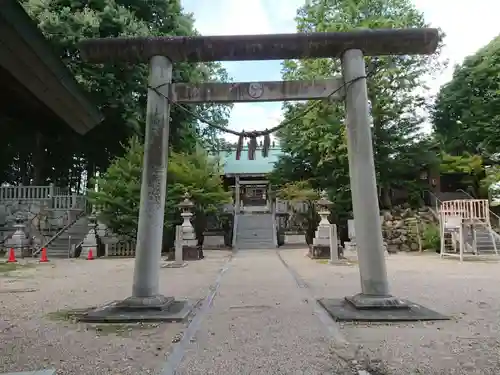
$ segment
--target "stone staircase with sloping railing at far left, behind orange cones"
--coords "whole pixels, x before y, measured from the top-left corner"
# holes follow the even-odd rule
[[[81,216],[73,225],[68,227],[47,245],[47,256],[49,259],[73,257],[72,247],[79,245],[85,238],[87,232],[87,217]]]

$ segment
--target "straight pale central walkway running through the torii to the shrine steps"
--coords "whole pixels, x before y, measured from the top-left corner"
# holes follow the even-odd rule
[[[275,250],[240,251],[162,375],[367,374],[332,349],[336,325],[322,314]]]

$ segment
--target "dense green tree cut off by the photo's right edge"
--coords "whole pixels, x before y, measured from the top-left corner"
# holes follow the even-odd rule
[[[434,131],[449,153],[500,150],[500,36],[455,67],[432,112]]]

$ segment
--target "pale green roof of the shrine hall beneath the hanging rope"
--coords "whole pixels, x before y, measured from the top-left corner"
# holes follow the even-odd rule
[[[248,148],[241,151],[240,160],[236,160],[236,150],[219,153],[223,174],[267,174],[271,173],[274,163],[278,161],[283,151],[279,147],[269,149],[267,158],[262,156],[262,148],[255,151],[255,159],[248,160]]]

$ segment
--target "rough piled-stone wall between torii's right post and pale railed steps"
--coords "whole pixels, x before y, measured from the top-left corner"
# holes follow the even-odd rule
[[[426,223],[435,222],[427,208],[395,207],[383,212],[382,233],[388,252],[420,251]]]

